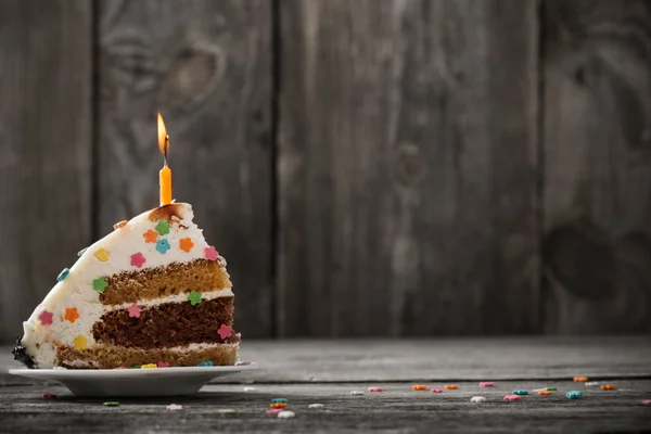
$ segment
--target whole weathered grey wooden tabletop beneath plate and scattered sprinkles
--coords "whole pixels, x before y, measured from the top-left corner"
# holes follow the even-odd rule
[[[651,430],[651,405],[642,404],[651,399],[648,337],[246,342],[242,358],[264,369],[226,376],[189,397],[116,398],[119,407],[9,375],[9,348],[0,350],[0,433]],[[576,375],[616,388],[574,383]],[[495,381],[495,387],[478,387],[480,380]],[[416,392],[416,382],[441,388],[454,382],[459,388]],[[384,392],[350,395],[369,386]],[[545,386],[558,391],[502,399],[516,388]],[[565,398],[573,390],[583,391],[583,398]],[[43,393],[58,398],[43,399]],[[472,404],[476,395],[486,403]],[[289,399],[294,419],[265,412],[275,397]],[[308,408],[317,403],[324,407]],[[169,404],[183,409],[167,411]]]

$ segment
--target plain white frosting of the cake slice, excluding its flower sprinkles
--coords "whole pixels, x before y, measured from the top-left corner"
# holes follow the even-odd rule
[[[192,222],[194,217],[192,207],[183,203],[175,204],[175,206],[180,220],[169,225],[169,233],[157,235],[157,240],[165,239],[169,243],[170,248],[165,253],[158,252],[156,243],[148,243],[143,237],[148,230],[156,230],[158,224],[149,218],[151,210],[148,210],[89,246],[71,267],[68,276],[52,288],[29,319],[23,323],[25,330],[23,345],[39,368],[54,366],[54,341],[75,346],[73,341],[81,335],[87,340],[90,348],[95,343],[92,336],[92,326],[100,320],[101,316],[132,305],[130,303],[118,306],[103,305],[100,302],[100,293],[93,290],[92,281],[94,279],[124,271],[163,267],[171,263],[190,263],[206,257],[205,248],[208,247],[208,244],[204,240],[202,230]],[[180,241],[186,238],[190,238],[194,244],[189,252],[180,248]],[[107,252],[108,260],[102,261],[95,256],[100,248]],[[141,253],[145,258],[141,268],[131,265],[131,255],[137,253]],[[222,258],[219,257],[219,260]],[[231,289],[225,289],[204,293],[202,298],[212,299],[231,295],[233,295]],[[138,302],[138,306],[146,307],[183,301],[187,301],[187,294],[141,301]],[[74,322],[65,319],[68,308],[76,308],[79,315]],[[41,324],[39,316],[43,310],[52,314],[51,324]]]

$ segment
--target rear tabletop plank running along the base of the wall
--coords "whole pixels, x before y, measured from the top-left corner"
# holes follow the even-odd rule
[[[540,355],[545,355],[541,357]],[[10,378],[9,348],[0,347],[0,384]],[[651,342],[637,337],[281,340],[246,341],[241,358],[260,365],[219,382],[396,382],[592,380],[651,378]],[[397,369],[396,367],[399,367]],[[3,375],[4,371],[4,375]]]

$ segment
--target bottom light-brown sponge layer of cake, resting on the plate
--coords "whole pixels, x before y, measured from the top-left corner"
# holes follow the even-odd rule
[[[238,336],[239,341],[239,336]],[[225,344],[214,348],[173,352],[169,349],[125,348],[99,346],[75,349],[67,345],[56,345],[58,365],[68,369],[113,369],[132,367],[158,361],[169,362],[170,367],[194,367],[204,361],[214,366],[230,366],[238,361],[239,344]]]

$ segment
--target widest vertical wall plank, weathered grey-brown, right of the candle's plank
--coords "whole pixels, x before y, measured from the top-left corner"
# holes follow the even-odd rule
[[[281,335],[539,330],[536,2],[280,23]]]

